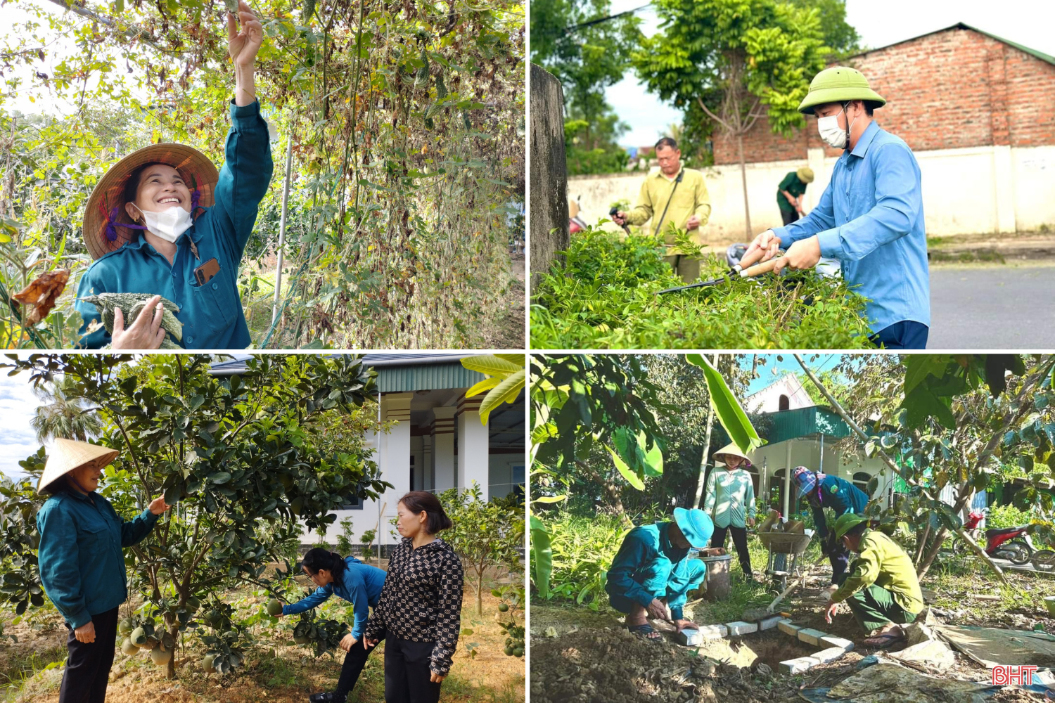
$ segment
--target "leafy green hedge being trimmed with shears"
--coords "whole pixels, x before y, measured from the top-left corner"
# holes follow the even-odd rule
[[[701,261],[701,276],[727,271]],[[761,285],[760,285],[761,282]],[[588,229],[532,300],[535,349],[868,349],[865,298],[814,271],[657,296],[682,285],[657,237]]]

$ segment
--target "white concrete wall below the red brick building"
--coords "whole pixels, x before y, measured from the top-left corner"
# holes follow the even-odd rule
[[[923,212],[931,236],[1031,232],[1055,226],[1055,145],[1012,149],[976,147],[916,152],[923,180]],[[809,165],[817,175],[806,189],[805,209],[812,210],[831,178],[835,157],[823,150],[793,161],[747,164],[751,230],[779,227],[776,185],[789,171]],[[711,197],[711,220],[703,228],[705,241],[744,241],[744,195],[738,165],[704,170]],[[572,176],[569,200],[579,199],[580,217],[594,223],[608,217],[617,200],[637,201],[642,172],[603,176]],[[613,232],[619,228],[609,223]]]

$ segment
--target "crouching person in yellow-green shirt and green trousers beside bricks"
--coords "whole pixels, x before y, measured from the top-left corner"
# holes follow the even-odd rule
[[[836,521],[836,539],[860,555],[850,564],[850,575],[831,594],[825,620],[830,623],[839,604],[845,601],[871,636],[865,639],[866,645],[888,647],[904,640],[900,625],[915,621],[923,609],[913,560],[897,542],[868,529],[867,519],[855,513]]]

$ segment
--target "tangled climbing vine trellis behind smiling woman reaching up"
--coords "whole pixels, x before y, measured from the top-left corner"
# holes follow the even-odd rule
[[[4,291],[55,268],[72,268],[75,288],[89,262],[79,215],[110,164],[150,141],[189,143],[219,163],[229,126],[223,2],[89,0],[64,13],[49,5],[66,6],[8,2],[50,25],[14,26],[0,46]],[[512,282],[510,222],[524,183],[523,5],[252,6],[267,36],[257,95],[275,137],[275,175],[239,277],[254,344],[471,343]],[[77,44],[59,62],[57,34]],[[27,90],[71,109],[43,119],[4,106]],[[271,325],[268,266],[290,137],[286,273]],[[17,308],[4,305],[0,344],[68,346],[78,321],[71,302],[72,290],[32,337]]]

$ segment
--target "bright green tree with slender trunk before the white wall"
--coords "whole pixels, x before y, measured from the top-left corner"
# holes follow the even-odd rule
[[[775,0],[657,0],[656,13],[665,28],[633,52],[637,75],[675,106],[698,106],[736,143],[753,236],[744,135],[763,116],[776,133],[805,124],[797,109],[830,51],[820,13]]]

